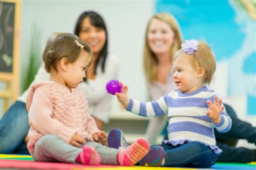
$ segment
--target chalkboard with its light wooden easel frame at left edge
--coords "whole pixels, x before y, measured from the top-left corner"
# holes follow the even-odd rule
[[[5,84],[0,99],[4,111],[19,94],[20,16],[21,0],[0,0],[0,83]]]

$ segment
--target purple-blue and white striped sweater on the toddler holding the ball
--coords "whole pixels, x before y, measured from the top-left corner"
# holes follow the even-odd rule
[[[174,90],[169,94],[151,102],[139,102],[130,98],[126,108],[134,114],[152,117],[168,114],[169,140],[164,143],[173,146],[182,145],[190,141],[199,141],[210,147],[216,154],[221,150],[216,146],[213,128],[219,132],[227,132],[231,128],[231,119],[226,110],[221,112],[221,122],[215,124],[206,115],[208,110],[207,100],[214,103],[215,93],[206,86],[192,93],[182,93]]]

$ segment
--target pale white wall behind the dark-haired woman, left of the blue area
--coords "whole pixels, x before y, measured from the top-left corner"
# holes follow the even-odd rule
[[[28,63],[31,29],[42,30],[41,52],[52,32],[73,33],[85,10],[95,10],[109,30],[109,51],[119,57],[120,80],[130,87],[130,96],[145,99],[142,49],[146,23],[153,14],[153,1],[26,1],[22,2],[21,74]],[[42,56],[38,56],[41,59]],[[122,78],[121,78],[122,77]]]

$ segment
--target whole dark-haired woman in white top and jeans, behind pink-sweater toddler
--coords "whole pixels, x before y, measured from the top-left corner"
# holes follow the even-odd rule
[[[92,49],[93,61],[86,70],[86,80],[80,83],[80,88],[87,97],[91,116],[95,118],[98,129],[102,130],[104,124],[109,122],[112,102],[111,96],[106,93],[105,84],[110,79],[117,79],[118,60],[107,53],[106,25],[98,13],[83,12],[77,20],[75,34]],[[50,74],[42,65],[30,87],[49,77]],[[29,131],[26,110],[28,90],[18,97],[0,120],[0,153],[29,154],[25,139]]]

